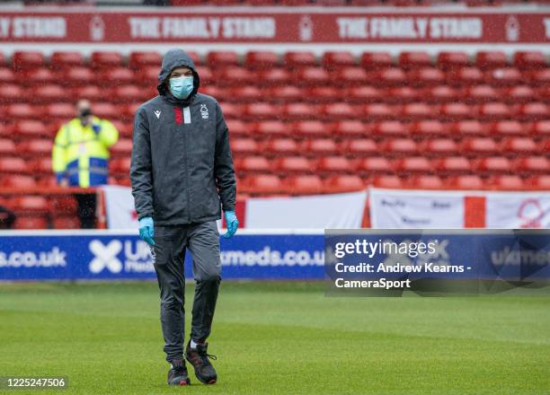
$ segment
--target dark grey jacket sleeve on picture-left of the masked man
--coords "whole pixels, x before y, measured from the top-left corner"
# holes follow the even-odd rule
[[[144,111],[138,109],[134,118],[130,181],[139,219],[153,216],[152,171],[149,124]]]

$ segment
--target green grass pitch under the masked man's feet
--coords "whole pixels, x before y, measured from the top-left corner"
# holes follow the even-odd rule
[[[64,375],[67,394],[550,393],[548,296],[336,298],[321,283],[226,281],[209,339],[218,382],[190,371],[187,388],[165,385],[158,309],[152,282],[0,285],[0,376]]]

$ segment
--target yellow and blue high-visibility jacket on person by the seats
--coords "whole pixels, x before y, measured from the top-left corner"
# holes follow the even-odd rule
[[[93,117],[85,127],[71,119],[58,130],[51,154],[58,182],[81,188],[106,184],[109,147],[118,139],[119,131],[106,119]]]

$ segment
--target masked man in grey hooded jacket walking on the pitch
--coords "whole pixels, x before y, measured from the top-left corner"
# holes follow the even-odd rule
[[[226,237],[235,234],[235,171],[226,121],[217,101],[198,93],[199,75],[181,49],[171,49],[158,75],[159,96],[134,119],[130,179],[139,235],[151,246],[161,297],[168,384],[190,383],[185,359],[200,382],[217,373],[206,340],[220,284],[216,220],[223,208]],[[196,281],[191,339],[183,352],[183,259],[189,248]],[[214,358],[212,358],[214,359]]]

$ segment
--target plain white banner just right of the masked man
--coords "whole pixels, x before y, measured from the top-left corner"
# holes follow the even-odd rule
[[[359,228],[367,191],[298,198],[249,198],[246,228]]]

